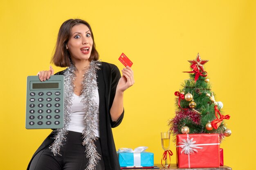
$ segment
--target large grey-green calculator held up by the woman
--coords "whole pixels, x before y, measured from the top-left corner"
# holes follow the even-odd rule
[[[55,82],[64,82],[57,76]],[[29,80],[31,79],[31,80]],[[58,129],[63,128],[64,114],[64,90],[63,85],[60,89],[31,89],[30,81],[49,83],[50,81],[40,82],[38,76],[28,76],[27,79],[27,109],[26,109],[26,128],[27,129]],[[54,83],[55,83],[54,82]],[[29,86],[30,85],[30,86]],[[29,86],[29,87],[28,87]]]

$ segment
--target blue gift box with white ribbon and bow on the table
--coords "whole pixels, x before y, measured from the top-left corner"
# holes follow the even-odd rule
[[[120,148],[117,152],[120,167],[154,166],[154,154],[144,152],[148,147],[141,146],[133,151],[130,148]]]

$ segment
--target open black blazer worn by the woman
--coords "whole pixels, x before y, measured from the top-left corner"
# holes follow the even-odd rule
[[[65,70],[56,73],[56,75],[63,75],[64,72]],[[117,83],[121,78],[121,75],[116,65],[101,62],[100,70],[97,71],[97,76],[99,91],[99,132],[101,138],[102,156],[106,170],[120,170],[111,128],[114,128],[121,123],[124,118],[124,111],[117,122],[113,122],[110,116],[110,108],[115,98]],[[32,156],[27,170],[29,170],[31,161],[35,155],[40,150],[43,150],[45,147],[49,147],[49,145],[54,142],[53,137],[54,134],[50,133],[39,146]]]

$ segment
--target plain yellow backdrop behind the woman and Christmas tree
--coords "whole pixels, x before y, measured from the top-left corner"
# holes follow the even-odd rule
[[[200,53],[216,100],[231,116],[222,142],[225,165],[254,169],[256,1],[249,0],[1,0],[0,162],[24,170],[51,130],[25,129],[26,78],[48,70],[58,29],[70,18],[88,21],[102,61],[134,63],[125,117],[113,129],[117,149],[148,146],[160,163],[160,132],[175,111],[174,92]],[[54,66],[55,72],[63,70]],[[175,146],[171,143],[175,163]]]

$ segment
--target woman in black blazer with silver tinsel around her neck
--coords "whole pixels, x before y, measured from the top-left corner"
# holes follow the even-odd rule
[[[120,170],[112,127],[124,117],[124,91],[134,84],[132,69],[99,62],[90,25],[65,21],[52,63],[64,75],[64,128],[53,131],[36,150],[28,170]],[[38,72],[40,81],[54,74]]]

